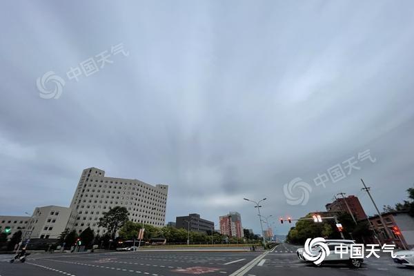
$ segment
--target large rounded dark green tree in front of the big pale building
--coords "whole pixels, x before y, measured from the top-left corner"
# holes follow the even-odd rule
[[[106,228],[110,237],[115,239],[117,230],[128,221],[128,215],[128,210],[125,207],[115,206],[110,208],[108,212],[103,213],[103,217],[99,218],[98,226]]]

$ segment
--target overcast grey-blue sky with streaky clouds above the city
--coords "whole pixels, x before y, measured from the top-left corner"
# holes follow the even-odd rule
[[[413,1],[86,2],[2,4],[1,215],[69,206],[91,166],[168,184],[166,221],[199,213],[218,223],[238,211],[256,233],[244,197],[267,197],[263,215],[300,217],[344,192],[373,215],[364,178],[378,206],[406,199]],[[68,78],[105,50],[112,63]],[[57,99],[39,95],[49,71],[65,81]],[[59,89],[53,80],[40,82]],[[315,185],[364,150],[373,161]],[[292,189],[309,195],[304,205],[283,190],[297,177],[311,187]]]

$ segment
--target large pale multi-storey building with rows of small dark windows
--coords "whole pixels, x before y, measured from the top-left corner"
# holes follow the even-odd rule
[[[73,228],[90,227],[103,235],[99,218],[115,206],[125,207],[130,221],[161,227],[165,224],[168,185],[152,186],[137,179],[106,177],[99,168],[82,171],[70,208],[77,212]]]

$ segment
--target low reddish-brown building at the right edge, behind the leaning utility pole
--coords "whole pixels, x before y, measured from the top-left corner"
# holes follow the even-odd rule
[[[413,248],[414,246],[414,217],[408,215],[407,211],[395,211],[383,213],[382,218],[388,228],[388,232],[393,235],[391,241],[387,239],[384,225],[378,215],[369,217],[375,233],[382,244],[395,243],[399,248]]]

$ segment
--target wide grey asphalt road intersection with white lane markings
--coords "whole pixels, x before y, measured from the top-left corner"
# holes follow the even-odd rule
[[[186,276],[186,275],[413,275],[391,257],[367,259],[359,269],[345,265],[314,267],[299,262],[295,246],[280,244],[271,252],[155,252],[30,255],[25,264],[0,256],[0,276]]]

